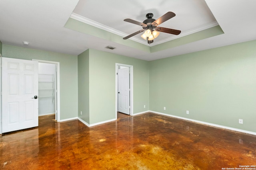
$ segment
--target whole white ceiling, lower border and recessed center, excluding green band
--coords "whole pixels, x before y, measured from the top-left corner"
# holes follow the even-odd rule
[[[255,0],[1,0],[0,41],[72,55],[92,48],[151,61],[256,39],[255,7]],[[168,11],[176,16],[160,26],[179,29],[182,33],[161,32],[150,46],[215,25],[220,25],[224,34],[148,53],[64,27],[70,17],[79,17],[124,37],[142,29],[124,19],[142,22],[147,13],[153,13],[157,19]],[[131,39],[148,45],[140,34]],[[25,46],[22,41],[30,44]],[[116,49],[106,49],[108,45]]]

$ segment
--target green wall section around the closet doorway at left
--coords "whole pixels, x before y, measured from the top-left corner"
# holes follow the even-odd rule
[[[3,57],[60,62],[60,119],[77,117],[78,72],[77,56],[2,45]]]

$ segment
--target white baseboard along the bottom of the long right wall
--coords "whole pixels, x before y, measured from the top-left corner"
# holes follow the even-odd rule
[[[165,116],[169,116],[169,117],[175,117],[175,118],[178,118],[178,119],[184,119],[184,120],[188,120],[188,121],[193,121],[193,122],[196,122],[196,123],[202,123],[202,124],[210,125],[210,126],[214,126],[214,127],[220,127],[220,128],[224,128],[224,129],[229,129],[229,130],[232,130],[232,131],[238,131],[238,132],[242,132],[242,133],[248,133],[248,134],[251,134],[251,135],[256,135],[256,132],[252,132],[252,131],[245,131],[245,130],[242,130],[242,129],[236,129],[236,128],[233,128],[233,127],[217,125],[217,124],[214,124],[214,123],[208,123],[208,122],[204,122],[204,121],[188,119],[188,118],[185,118],[185,117],[180,117],[180,116],[175,116],[175,115],[169,115],[169,114],[160,113],[160,112],[157,112],[157,111],[151,111],[150,110],[149,112],[160,114],[160,115],[165,115]]]

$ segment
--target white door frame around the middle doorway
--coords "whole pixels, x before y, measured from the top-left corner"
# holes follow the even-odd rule
[[[118,107],[118,66],[126,66],[130,68],[130,115],[133,115],[133,66],[127,64],[116,63],[116,119]]]

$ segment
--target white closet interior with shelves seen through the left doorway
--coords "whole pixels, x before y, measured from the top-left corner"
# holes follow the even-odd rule
[[[38,63],[38,115],[55,114],[56,66]]]

